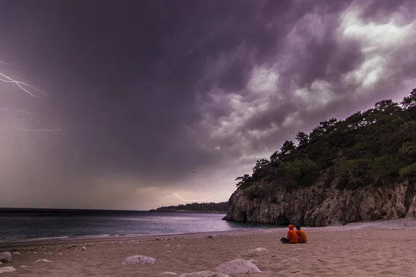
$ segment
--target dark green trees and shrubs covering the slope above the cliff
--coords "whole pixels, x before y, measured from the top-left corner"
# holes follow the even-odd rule
[[[276,188],[311,186],[322,176],[326,186],[341,190],[414,180],[416,89],[399,103],[382,100],[345,120],[322,121],[310,134],[297,133],[296,141],[286,141],[270,160],[258,160],[236,186],[255,199]]]

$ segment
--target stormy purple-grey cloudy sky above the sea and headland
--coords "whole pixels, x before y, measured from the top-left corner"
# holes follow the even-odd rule
[[[415,18],[413,0],[0,0],[0,73],[46,93],[0,82],[0,206],[226,201],[296,132],[408,95]]]

